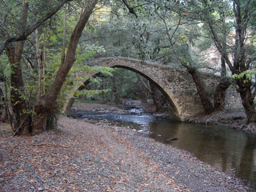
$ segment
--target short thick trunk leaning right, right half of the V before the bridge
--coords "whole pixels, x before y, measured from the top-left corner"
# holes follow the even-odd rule
[[[217,85],[213,94],[214,111],[224,110],[226,90],[228,89],[229,85],[230,81],[227,79],[221,79],[220,83]]]

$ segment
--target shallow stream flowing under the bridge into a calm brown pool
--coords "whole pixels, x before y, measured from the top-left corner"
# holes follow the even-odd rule
[[[256,134],[227,126],[181,123],[161,120],[129,109],[129,115],[73,111],[90,118],[105,118],[132,129],[149,132],[148,137],[193,153],[201,161],[233,173],[256,191]],[[167,141],[170,138],[178,140]]]

